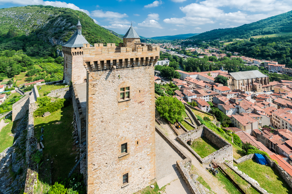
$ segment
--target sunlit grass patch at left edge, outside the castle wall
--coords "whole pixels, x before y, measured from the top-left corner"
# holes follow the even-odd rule
[[[1,119],[0,119],[1,120]],[[0,152],[3,152],[4,149],[7,147],[11,147],[14,142],[14,137],[11,136],[14,134],[14,129],[17,127],[17,122],[19,120],[16,120],[14,122],[10,122],[8,125],[3,127],[0,131]]]

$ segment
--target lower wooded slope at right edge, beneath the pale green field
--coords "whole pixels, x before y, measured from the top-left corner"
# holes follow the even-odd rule
[[[225,50],[252,58],[275,60],[292,67],[292,35],[235,41],[227,45]]]

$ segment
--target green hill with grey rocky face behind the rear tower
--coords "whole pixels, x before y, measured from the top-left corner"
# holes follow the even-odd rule
[[[95,24],[86,13],[53,6],[0,9],[0,51],[22,49],[29,56],[57,57],[57,49],[76,30],[78,16],[82,35],[91,43],[121,42],[110,31]]]

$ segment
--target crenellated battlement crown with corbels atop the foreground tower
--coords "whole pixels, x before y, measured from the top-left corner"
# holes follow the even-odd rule
[[[155,65],[159,59],[159,47],[135,43],[134,48],[123,47],[123,43],[115,46],[102,43],[91,47],[83,44],[83,65],[88,71],[105,71]],[[133,51],[134,50],[134,51]]]

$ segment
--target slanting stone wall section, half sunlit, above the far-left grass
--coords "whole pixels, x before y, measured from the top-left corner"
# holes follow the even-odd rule
[[[12,121],[23,118],[26,115],[29,105],[29,95],[21,98],[12,105]]]

